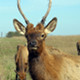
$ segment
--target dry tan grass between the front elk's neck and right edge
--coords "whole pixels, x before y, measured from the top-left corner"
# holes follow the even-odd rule
[[[49,36],[46,44],[66,53],[77,54],[76,42],[79,40],[80,36]]]

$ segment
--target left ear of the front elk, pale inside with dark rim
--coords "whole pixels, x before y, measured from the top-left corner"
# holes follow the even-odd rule
[[[18,31],[20,34],[25,35],[25,27],[16,19],[13,20],[14,27],[16,31]]]

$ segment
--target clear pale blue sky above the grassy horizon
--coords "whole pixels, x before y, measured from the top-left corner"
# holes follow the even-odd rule
[[[28,20],[36,26],[45,15],[48,3],[49,0],[21,0],[20,5]],[[45,25],[54,17],[58,22],[51,35],[80,35],[80,0],[52,0]],[[15,31],[15,18],[26,26],[18,11],[17,0],[0,0],[0,34],[5,36],[9,31]]]

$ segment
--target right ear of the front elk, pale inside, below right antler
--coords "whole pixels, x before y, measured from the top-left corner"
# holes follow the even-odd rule
[[[51,33],[56,28],[57,18],[53,18],[48,25],[45,27],[45,33]]]

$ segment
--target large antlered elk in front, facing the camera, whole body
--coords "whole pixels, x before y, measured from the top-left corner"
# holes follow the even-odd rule
[[[29,72],[33,80],[80,80],[80,56],[70,54],[50,54],[47,52],[45,39],[55,30],[57,18],[53,18],[45,27],[45,20],[50,12],[52,0],[41,22],[34,27],[24,16],[18,0],[18,9],[27,27],[14,19],[15,29],[27,39],[29,51]]]

